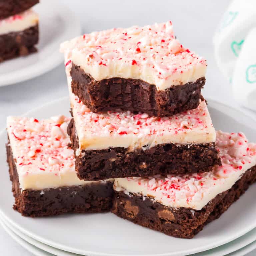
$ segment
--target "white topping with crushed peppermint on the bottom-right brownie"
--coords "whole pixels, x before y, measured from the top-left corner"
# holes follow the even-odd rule
[[[150,197],[168,207],[201,210],[256,165],[256,144],[248,143],[243,133],[218,131],[216,144],[222,166],[214,167],[211,172],[115,179],[114,189]]]

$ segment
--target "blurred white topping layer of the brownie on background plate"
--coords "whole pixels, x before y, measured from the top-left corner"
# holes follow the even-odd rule
[[[38,24],[38,15],[32,9],[0,20],[0,35],[23,31]]]

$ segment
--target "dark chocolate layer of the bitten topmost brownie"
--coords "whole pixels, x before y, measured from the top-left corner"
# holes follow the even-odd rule
[[[72,92],[95,113],[109,110],[143,112],[150,116],[171,116],[199,105],[202,77],[195,82],[157,91],[156,86],[138,79],[94,80],[72,63]]]

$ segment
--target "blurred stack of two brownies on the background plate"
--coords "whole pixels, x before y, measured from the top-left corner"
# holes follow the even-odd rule
[[[36,52],[38,15],[31,9],[39,0],[0,2],[0,62]]]

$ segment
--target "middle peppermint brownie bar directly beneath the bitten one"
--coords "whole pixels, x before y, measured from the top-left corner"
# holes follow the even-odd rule
[[[68,71],[67,77],[70,85]],[[205,101],[194,110],[162,118],[130,111],[96,114],[71,89],[70,102],[68,134],[80,179],[204,172],[221,164]]]

